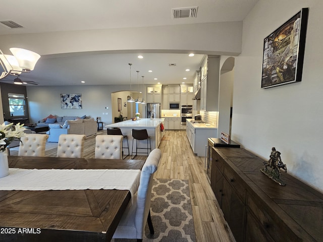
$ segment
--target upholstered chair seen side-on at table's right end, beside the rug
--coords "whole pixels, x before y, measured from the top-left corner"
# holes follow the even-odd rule
[[[140,173],[140,183],[133,204],[129,203],[113,238],[133,238],[142,241],[146,221],[150,234],[154,233],[150,217],[150,199],[153,173],[157,170],[161,151],[153,149],[148,155]]]

